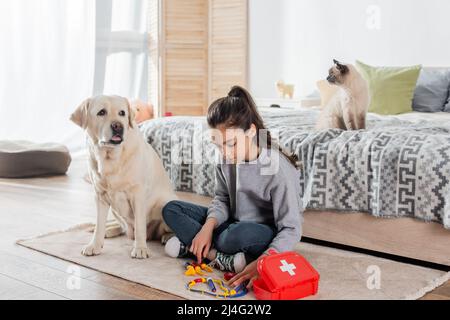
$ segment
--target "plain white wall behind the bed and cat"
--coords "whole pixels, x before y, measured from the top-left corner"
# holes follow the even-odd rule
[[[284,79],[307,95],[333,58],[450,66],[449,12],[448,0],[250,0],[250,89],[275,97]]]

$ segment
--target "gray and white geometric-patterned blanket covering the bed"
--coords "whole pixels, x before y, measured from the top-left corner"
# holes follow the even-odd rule
[[[369,114],[362,131],[315,131],[319,111],[261,108],[280,144],[302,161],[308,209],[409,216],[450,229],[450,122]],[[166,117],[140,129],[178,191],[214,195],[214,160],[204,117]]]

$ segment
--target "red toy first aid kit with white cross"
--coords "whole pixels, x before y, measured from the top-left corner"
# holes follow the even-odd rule
[[[319,273],[297,252],[277,253],[258,260],[253,292],[260,300],[294,300],[317,293]]]

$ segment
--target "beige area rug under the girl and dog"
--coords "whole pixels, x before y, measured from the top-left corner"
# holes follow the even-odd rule
[[[215,299],[185,289],[192,279],[183,274],[185,260],[167,257],[159,242],[149,243],[152,256],[147,260],[130,258],[132,242],[126,237],[106,239],[99,256],[82,256],[81,248],[92,235],[87,231],[90,227],[81,225],[17,243],[187,299]],[[418,299],[450,279],[450,273],[443,271],[307,243],[299,243],[296,250],[320,273],[318,294],[306,299]],[[371,281],[376,274],[379,288]],[[243,299],[255,297],[250,292]]]

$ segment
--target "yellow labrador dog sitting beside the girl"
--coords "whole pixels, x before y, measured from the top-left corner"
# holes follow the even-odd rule
[[[97,205],[94,234],[82,254],[98,255],[105,236],[126,233],[134,239],[131,256],[148,258],[147,239],[170,232],[161,212],[177,196],[161,160],[137,128],[128,100],[96,96],[85,100],[70,119],[87,133]],[[110,209],[115,226],[106,223]]]

